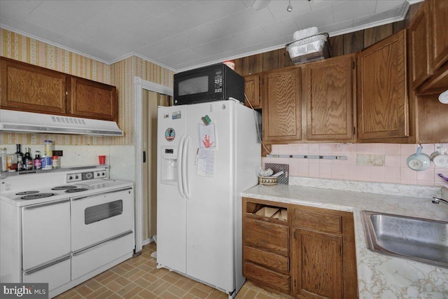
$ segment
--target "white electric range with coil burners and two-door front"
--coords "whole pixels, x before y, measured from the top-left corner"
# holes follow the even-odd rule
[[[134,253],[134,190],[109,167],[2,174],[0,281],[48,282],[50,297]]]

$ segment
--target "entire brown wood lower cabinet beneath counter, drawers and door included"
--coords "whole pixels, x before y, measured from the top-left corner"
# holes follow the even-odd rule
[[[353,214],[243,199],[243,274],[296,298],[358,298]]]

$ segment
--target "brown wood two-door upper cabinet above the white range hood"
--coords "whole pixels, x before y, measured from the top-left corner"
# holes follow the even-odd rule
[[[116,87],[0,57],[1,109],[118,120]]]

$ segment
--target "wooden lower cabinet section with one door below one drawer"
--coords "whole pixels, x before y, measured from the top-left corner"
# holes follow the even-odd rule
[[[358,298],[353,214],[293,205],[297,298]]]

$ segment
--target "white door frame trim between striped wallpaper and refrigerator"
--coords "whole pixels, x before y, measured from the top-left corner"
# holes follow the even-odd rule
[[[135,145],[135,251],[139,252],[143,248],[143,90],[158,92],[162,95],[173,96],[173,88],[151,81],[146,81],[139,76],[134,76],[134,145]]]

